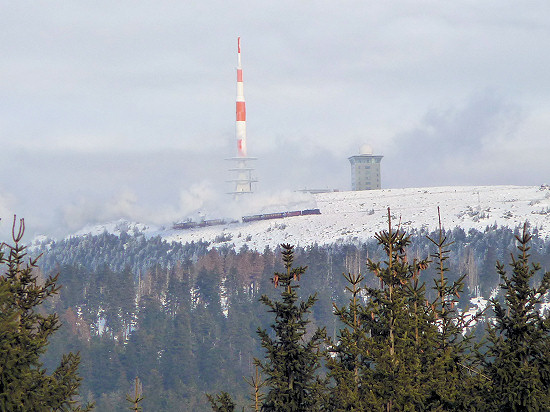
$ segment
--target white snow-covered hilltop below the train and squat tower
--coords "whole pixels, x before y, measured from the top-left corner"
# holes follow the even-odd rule
[[[310,244],[356,243],[373,237],[387,228],[387,208],[391,208],[394,225],[401,221],[407,229],[428,230],[438,226],[440,207],[443,226],[485,230],[497,225],[516,228],[528,221],[539,236],[550,235],[550,186],[453,186],[408,189],[383,189],[358,192],[332,192],[314,195],[320,215],[185,230],[159,229],[142,224],[115,222],[85,228],[78,233],[107,230],[142,231],[148,236],[160,235],[167,241],[208,241],[212,246],[247,245],[263,250],[265,246],[291,243]],[[283,211],[283,210],[281,210]]]

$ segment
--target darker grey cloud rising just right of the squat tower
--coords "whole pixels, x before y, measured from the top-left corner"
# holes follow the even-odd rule
[[[385,165],[392,171],[391,184],[498,184],[511,160],[509,153],[498,153],[498,146],[517,138],[523,120],[518,105],[489,91],[461,107],[431,110],[420,126],[396,136]]]

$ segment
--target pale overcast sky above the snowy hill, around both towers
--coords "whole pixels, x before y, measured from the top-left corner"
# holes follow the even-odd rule
[[[365,143],[383,188],[550,183],[548,1],[19,0],[0,27],[0,232],[223,210],[238,36],[259,203],[349,190]]]

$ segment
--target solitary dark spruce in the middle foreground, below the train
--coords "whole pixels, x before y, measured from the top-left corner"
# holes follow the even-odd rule
[[[288,244],[281,245],[286,272],[276,272],[273,283],[281,288],[281,300],[272,301],[262,295],[260,301],[275,314],[271,325],[273,335],[258,329],[267,359],[256,360],[266,376],[268,388],[262,411],[306,412],[322,410],[324,383],[318,375],[322,355],[320,346],[325,339],[325,329],[317,328],[307,339],[308,313],[316,297],[298,301],[295,282],[306,267],[293,267],[294,250]]]

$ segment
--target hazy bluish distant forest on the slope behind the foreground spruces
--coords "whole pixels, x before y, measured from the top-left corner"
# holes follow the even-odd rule
[[[435,252],[426,235],[411,237],[410,260]],[[465,308],[471,296],[488,297],[498,289],[495,263],[509,261],[516,239],[503,228],[455,229],[445,235],[454,242],[446,262],[449,281],[467,274],[458,302]],[[531,247],[532,260],[550,267],[550,243],[535,237]],[[273,273],[284,271],[279,249],[209,249],[206,243],[103,234],[56,242],[44,251],[40,266],[45,273],[59,272],[63,286],[48,310],[64,324],[51,339],[45,365],[53,367],[60,354],[80,351],[80,394],[95,401],[97,410],[126,408],[125,394],[136,376],[143,383],[144,410],[211,410],[204,394],[220,390],[239,405],[249,403],[251,388],[243,377],[255,373],[254,357],[265,355],[257,329],[269,329],[273,322],[258,299],[279,295],[272,283]],[[297,293],[318,298],[308,330],[326,327],[327,335],[336,337],[342,321],[334,316],[333,303],[342,307],[350,299],[342,274],[362,273],[365,287],[378,288],[380,280],[367,262],[384,258],[375,240],[296,248],[294,263],[308,266]],[[432,289],[436,275],[433,265],[420,274],[430,299],[437,294]]]

